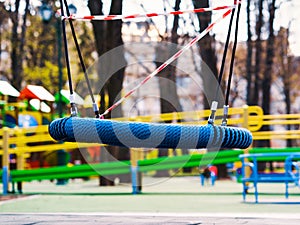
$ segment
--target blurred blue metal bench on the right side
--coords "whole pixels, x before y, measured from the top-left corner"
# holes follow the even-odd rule
[[[295,160],[300,159],[300,153],[258,153],[243,154],[239,156],[242,162],[242,183],[243,200],[246,201],[246,195],[251,188],[249,183],[253,183],[255,202],[258,202],[258,183],[284,183],[285,197],[289,197],[289,187],[300,186],[300,170]],[[284,172],[282,173],[261,173],[258,172],[258,161],[268,161],[268,158],[278,157],[284,161]],[[251,174],[247,174],[246,168],[249,167]]]

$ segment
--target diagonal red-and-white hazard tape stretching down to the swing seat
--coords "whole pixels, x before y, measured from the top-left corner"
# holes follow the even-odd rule
[[[128,93],[126,93],[119,101],[109,107],[103,114],[101,114],[101,118],[104,118],[104,115],[107,115],[114,108],[120,105],[126,98],[132,95],[137,89],[139,89],[142,85],[144,85],[151,78],[156,76],[159,72],[161,72],[164,68],[170,65],[173,61],[179,58],[184,52],[190,49],[195,43],[197,43],[200,39],[202,39],[206,34],[208,34],[213,27],[222,21],[225,17],[227,17],[232,12],[232,9],[227,10],[221,17],[217,18],[214,22],[212,22],[204,31],[202,31],[199,35],[197,35],[194,39],[192,39],[186,46],[184,46],[181,50],[175,53],[171,58],[169,58],[166,62],[164,62],[161,66],[159,66],[156,70],[154,70],[150,75],[148,75],[140,84],[131,89]]]

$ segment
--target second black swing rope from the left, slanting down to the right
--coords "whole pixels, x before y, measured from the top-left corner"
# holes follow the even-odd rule
[[[64,0],[64,4],[65,4],[65,7],[66,7],[67,16],[70,17],[71,14],[70,14],[70,10],[69,10],[69,7],[68,7],[67,0]],[[72,37],[73,37],[73,40],[75,42],[77,54],[79,56],[80,65],[81,65],[81,68],[83,70],[85,81],[86,81],[87,87],[88,87],[88,91],[89,91],[89,94],[90,94],[91,99],[92,99],[92,104],[93,104],[93,110],[94,110],[94,113],[95,113],[95,117],[99,118],[100,117],[99,109],[98,109],[98,106],[96,104],[96,101],[95,101],[95,98],[94,98],[94,95],[93,95],[90,80],[89,80],[89,77],[87,75],[86,66],[85,66],[85,63],[84,63],[84,60],[83,60],[83,57],[82,57],[82,53],[81,53],[80,46],[79,46],[79,43],[78,43],[78,40],[77,40],[77,37],[76,37],[76,33],[75,33],[75,29],[74,29],[74,25],[73,25],[72,20],[69,20],[69,23],[70,23],[70,27],[71,27]]]

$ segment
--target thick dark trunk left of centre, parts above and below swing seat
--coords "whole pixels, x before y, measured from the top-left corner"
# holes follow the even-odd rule
[[[102,1],[98,0],[89,0],[88,7],[92,15],[103,15]],[[122,1],[113,0],[111,2],[110,14],[122,14]],[[102,57],[103,62],[99,63],[98,75],[99,77],[99,86],[101,86],[100,96],[101,96],[101,105],[100,113],[103,113],[107,106],[111,106],[114,102],[120,99],[120,93],[123,87],[124,72],[126,61],[124,58],[124,48],[122,40],[122,21],[92,21],[93,31],[96,41],[96,48],[99,57]],[[110,50],[117,48],[117,55],[109,54]],[[115,57],[118,57],[116,60]],[[117,72],[111,74],[111,71],[114,71],[114,67],[118,65],[123,65],[121,69]],[[108,95],[108,102],[106,102],[105,96]],[[117,107],[113,111],[113,117],[121,117],[123,115],[121,107]],[[111,118],[111,113],[107,115],[106,118]],[[101,161],[114,161],[114,160],[125,160],[129,159],[129,149],[120,148],[114,146],[106,147],[106,151],[101,151]],[[114,178],[116,176],[110,177],[100,177],[100,185],[114,185]],[[122,176],[121,181],[128,181],[128,176]]]

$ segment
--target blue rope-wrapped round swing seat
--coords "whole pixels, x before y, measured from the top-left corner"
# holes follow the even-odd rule
[[[67,117],[52,121],[51,137],[57,141],[101,143],[131,148],[248,148],[252,134],[243,128],[215,125],[179,125],[120,122]]]

